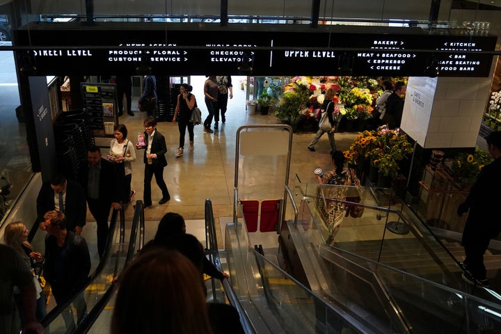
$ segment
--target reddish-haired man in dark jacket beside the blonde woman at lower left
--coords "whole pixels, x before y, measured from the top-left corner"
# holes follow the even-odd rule
[[[90,272],[90,255],[86,240],[79,234],[66,230],[66,216],[60,211],[52,210],[45,214],[44,276],[51,285],[56,303],[65,303],[84,287]],[[77,324],[84,319],[87,305],[84,294],[73,301],[77,309]],[[62,313],[67,333],[74,329],[73,315],[69,310]]]

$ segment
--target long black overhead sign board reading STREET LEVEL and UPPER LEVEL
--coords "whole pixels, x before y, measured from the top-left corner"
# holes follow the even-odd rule
[[[240,74],[248,66],[254,75],[351,71],[376,77],[423,76],[433,66],[443,77],[488,77],[496,42],[495,36],[388,27],[307,30],[276,24],[264,31],[252,24],[136,23],[131,29],[100,22],[56,30],[49,24],[15,31],[16,44],[32,48],[38,74],[136,74],[142,65],[157,75]],[[47,46],[50,41],[64,41],[65,47]]]

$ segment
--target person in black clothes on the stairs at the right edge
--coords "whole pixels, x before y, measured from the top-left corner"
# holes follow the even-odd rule
[[[488,287],[484,253],[491,239],[501,232],[501,224],[493,215],[501,202],[501,132],[496,131],[486,138],[488,152],[494,161],[482,168],[472,185],[466,200],[459,205],[457,214],[468,212],[463,230],[463,247],[466,258],[460,262],[463,280],[481,287]]]

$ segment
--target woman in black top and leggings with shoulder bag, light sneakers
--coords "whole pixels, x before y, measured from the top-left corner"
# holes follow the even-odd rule
[[[186,127],[188,127],[188,134],[190,140],[190,150],[193,150],[193,127],[191,122],[191,111],[196,107],[196,97],[191,94],[191,87],[189,84],[181,84],[180,93],[177,95],[177,104],[174,112],[173,123],[177,122],[177,127],[180,130],[180,145],[179,150],[175,154],[176,157],[181,157],[184,150],[184,136],[186,135]]]

